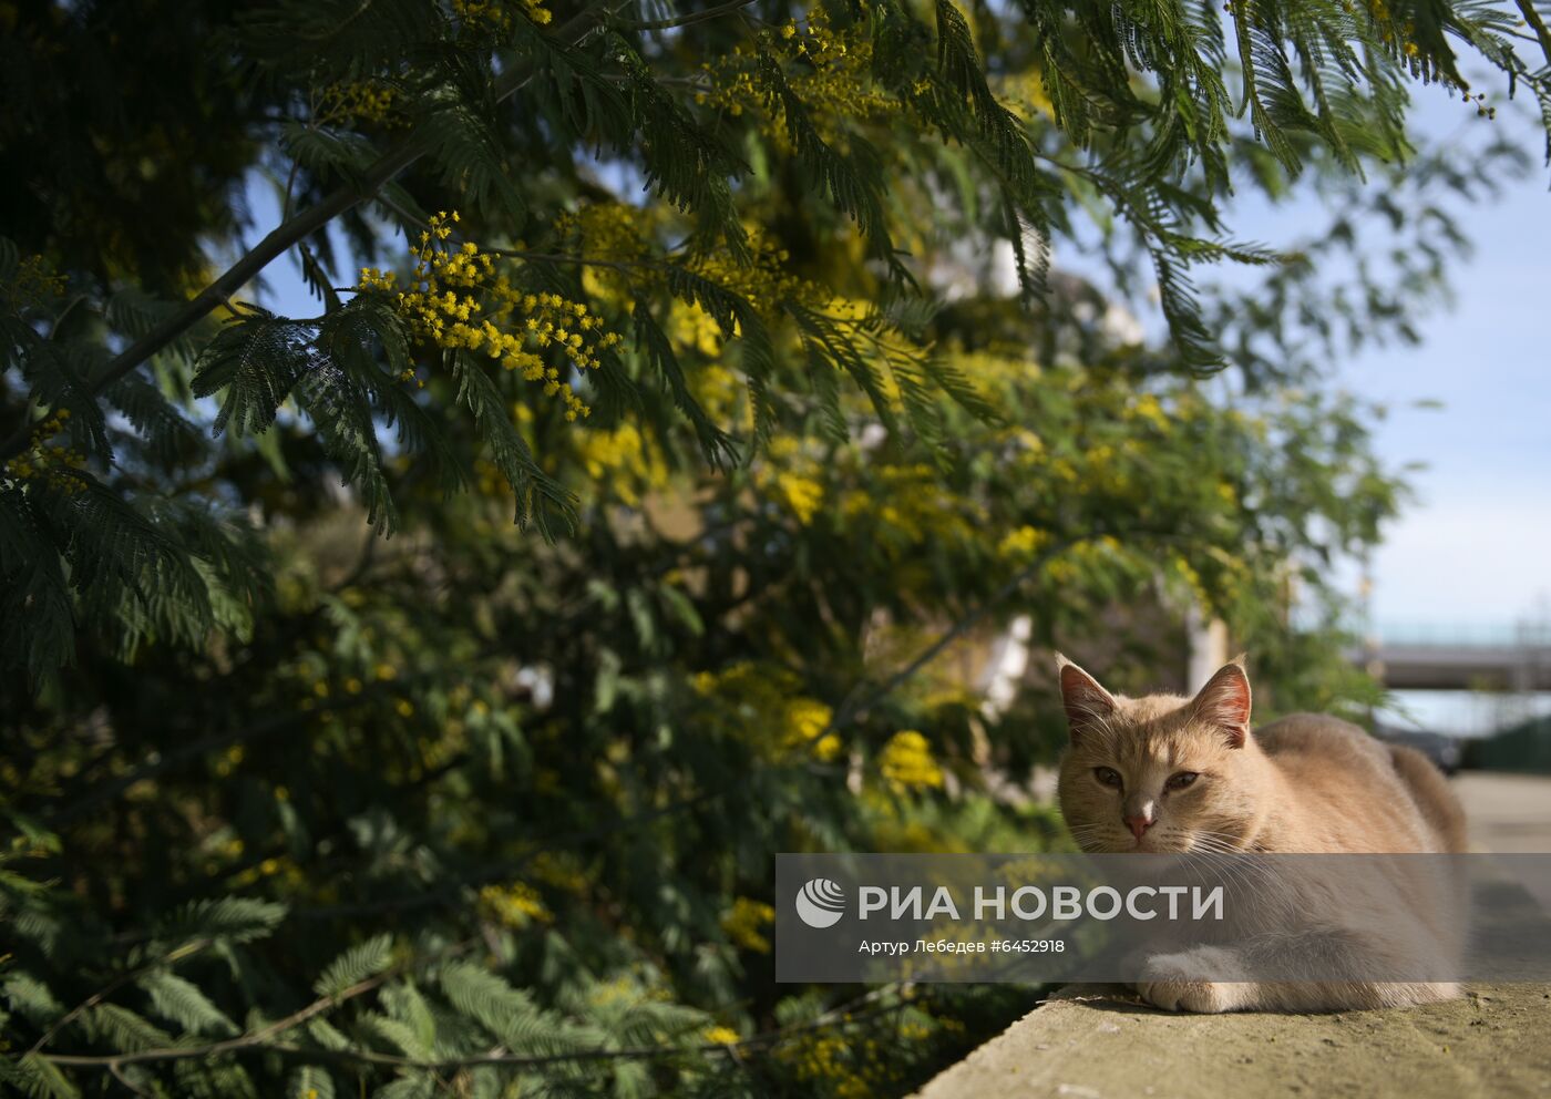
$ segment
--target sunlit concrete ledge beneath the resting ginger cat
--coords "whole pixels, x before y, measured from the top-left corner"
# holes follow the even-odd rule
[[[1551,986],[1332,1015],[1176,1015],[1121,986],[1073,986],[946,1070],[918,1099],[1551,1099]]]

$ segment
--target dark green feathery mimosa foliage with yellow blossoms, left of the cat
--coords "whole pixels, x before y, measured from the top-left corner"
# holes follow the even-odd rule
[[[1371,698],[1329,566],[1402,487],[1320,381],[1413,335],[1522,158],[1413,150],[1410,90],[1484,62],[1551,129],[1542,11],[8,5],[0,1088],[886,1094],[962,1056],[1036,992],[777,987],[771,853],[1061,843],[997,792],[1058,747],[1042,685],[991,713],[935,660],[1021,614],[1145,687],[1145,614],[1200,606],[1258,704]],[[1230,191],[1300,172],[1328,231],[1235,240]],[[530,358],[399,299],[430,211]],[[619,343],[577,367],[538,295]],[[1107,322],[1154,295],[1166,338]],[[907,730],[951,781],[889,777]]]

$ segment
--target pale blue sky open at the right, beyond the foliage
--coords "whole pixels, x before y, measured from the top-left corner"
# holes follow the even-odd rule
[[[1416,130],[1446,136],[1498,127],[1535,155],[1500,197],[1464,206],[1475,245],[1453,277],[1453,305],[1419,326],[1419,347],[1360,352],[1337,384],[1391,409],[1377,450],[1411,474],[1418,498],[1374,558],[1379,623],[1508,625],[1551,614],[1551,169],[1539,163],[1532,119],[1500,110],[1475,119],[1436,88],[1418,96]],[[1261,209],[1235,222],[1242,239],[1295,234],[1300,209]],[[1419,409],[1436,400],[1441,408]]]

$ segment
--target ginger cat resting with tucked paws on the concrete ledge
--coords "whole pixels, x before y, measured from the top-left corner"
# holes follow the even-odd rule
[[[1464,812],[1425,756],[1320,715],[1294,715],[1252,733],[1250,682],[1238,662],[1221,668],[1193,699],[1111,694],[1066,657],[1056,663],[1072,733],[1058,791],[1084,851],[1466,849]],[[1301,874],[1311,863],[1275,865]],[[1258,882],[1263,894],[1255,904],[1263,911],[1252,916],[1259,919],[1253,936],[1155,953],[1137,990],[1160,1008],[1197,1012],[1340,1011],[1458,995],[1450,983],[1360,980],[1397,972],[1404,963],[1396,959],[1458,956],[1458,894],[1442,887],[1418,891],[1415,880],[1371,880],[1383,874],[1370,874],[1352,890],[1351,882],[1335,884],[1339,874],[1303,876],[1297,890]],[[1311,891],[1323,893],[1326,904],[1309,905]],[[1222,980],[1238,964],[1272,961],[1297,970],[1300,958],[1314,956],[1339,958],[1340,972],[1352,977]]]

